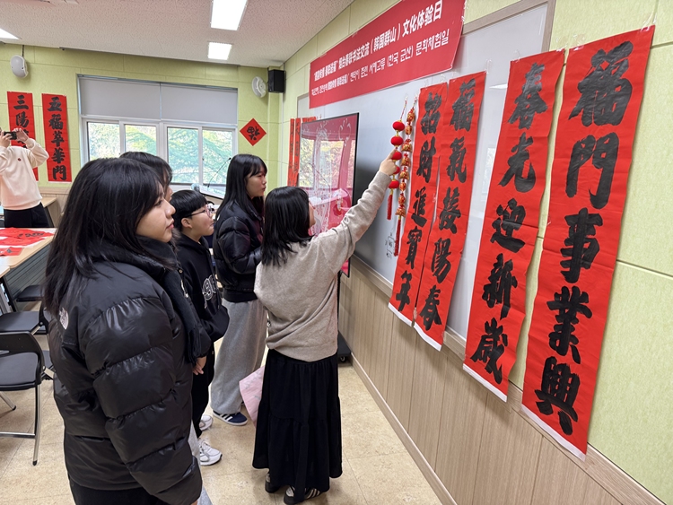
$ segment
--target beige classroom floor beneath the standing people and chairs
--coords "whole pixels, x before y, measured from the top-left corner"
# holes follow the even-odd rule
[[[39,337],[44,344],[44,336]],[[39,462],[32,466],[33,440],[0,438],[0,504],[72,505],[63,459],[63,421],[51,381],[42,387],[42,435]],[[339,365],[344,474],[324,495],[306,503],[354,505],[439,504],[414,460],[381,414],[349,363]],[[0,431],[31,431],[34,391],[6,393],[15,411],[0,400]],[[217,419],[203,437],[223,459],[202,467],[205,490],[214,505],[282,504],[284,489],[264,491],[266,470],[250,465],[255,428],[234,427]]]

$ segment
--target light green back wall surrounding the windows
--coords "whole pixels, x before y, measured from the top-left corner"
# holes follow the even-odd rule
[[[257,154],[267,162],[269,186],[275,187],[278,172],[278,144],[280,142],[280,95],[267,93],[258,98],[252,92],[252,78],[266,80],[266,68],[189,62],[153,57],[135,57],[92,51],[27,46],[24,57],[28,62],[29,75],[19,79],[12,74],[9,60],[21,54],[22,47],[14,44],[0,45],[0,125],[6,127],[8,120],[6,91],[26,91],[33,94],[36,135],[40,144],[44,141],[42,121],[42,93],[64,94],[68,102],[68,135],[73,175],[81,167],[79,135],[79,110],[77,99],[77,74],[123,77],[163,83],[188,83],[236,88],[239,91],[239,129],[251,118],[257,119],[267,135],[255,146],[238,135],[239,152]],[[47,165],[39,167],[39,186],[61,186],[48,183]]]

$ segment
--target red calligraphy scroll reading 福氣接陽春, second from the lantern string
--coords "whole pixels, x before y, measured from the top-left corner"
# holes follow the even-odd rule
[[[443,150],[448,156],[440,160],[439,205],[425,250],[415,318],[418,335],[438,351],[444,343],[446,315],[468,232],[485,76],[480,72],[451,80],[443,108],[442,143],[448,141],[449,150]]]

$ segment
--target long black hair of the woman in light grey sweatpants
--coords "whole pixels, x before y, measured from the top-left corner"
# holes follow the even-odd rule
[[[245,188],[249,178],[255,177],[258,173],[267,174],[267,165],[259,156],[254,154],[236,154],[229,163],[227,170],[227,190],[224,194],[222,205],[217,209],[216,217],[224,207],[236,203],[247,213],[254,209],[260,216],[264,216],[264,197],[255,196],[250,198]]]

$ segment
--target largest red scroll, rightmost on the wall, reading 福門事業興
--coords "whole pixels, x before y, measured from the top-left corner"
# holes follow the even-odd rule
[[[582,459],[653,34],[573,48],[566,65],[523,410]]]

